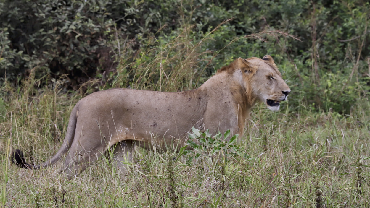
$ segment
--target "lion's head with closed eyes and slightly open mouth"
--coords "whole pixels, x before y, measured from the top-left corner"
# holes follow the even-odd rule
[[[265,55],[260,58],[238,59],[244,87],[250,100],[259,99],[270,110],[279,110],[280,101],[286,100],[290,89],[283,80],[274,60]]]

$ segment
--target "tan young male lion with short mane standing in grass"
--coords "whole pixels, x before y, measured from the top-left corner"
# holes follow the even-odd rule
[[[40,169],[55,164],[65,153],[65,176],[82,173],[110,147],[118,166],[132,160],[135,145],[166,149],[185,146],[195,126],[212,135],[230,130],[243,136],[245,120],[257,101],[278,110],[290,88],[270,55],[238,58],[222,67],[198,89],[157,92],[114,88],[94,92],[74,106],[58,152],[40,165],[26,163],[21,150],[11,161],[19,167]],[[118,144],[118,145],[116,145]]]

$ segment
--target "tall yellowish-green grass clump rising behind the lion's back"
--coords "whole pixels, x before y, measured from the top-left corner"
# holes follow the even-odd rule
[[[109,81],[104,87],[170,92],[192,89],[202,76],[198,65],[208,52],[202,52],[201,41],[194,41],[191,28],[178,28],[164,37],[149,37],[144,49],[121,59],[117,72],[107,75]]]

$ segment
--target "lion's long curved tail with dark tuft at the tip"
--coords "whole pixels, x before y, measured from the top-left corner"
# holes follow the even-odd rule
[[[55,164],[58,160],[61,159],[63,154],[67,153],[67,151],[70,149],[72,145],[72,142],[74,139],[74,133],[76,130],[77,114],[78,114],[78,103],[76,106],[74,106],[71,112],[71,116],[68,122],[67,133],[65,134],[65,139],[63,141],[62,146],[58,150],[57,154],[51,157],[48,161],[40,165],[28,164],[26,160],[24,159],[23,152],[19,149],[16,149],[13,151],[13,154],[11,154],[11,162],[21,168],[26,168],[26,169],[41,169],[41,168]]]

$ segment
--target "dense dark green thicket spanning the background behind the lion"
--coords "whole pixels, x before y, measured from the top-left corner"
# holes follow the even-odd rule
[[[269,54],[292,89],[292,110],[303,104],[350,114],[369,90],[369,15],[362,0],[1,0],[0,83],[22,86],[35,68],[37,87],[68,74],[68,90],[89,80],[96,89],[164,90],[155,68],[168,76],[191,59],[183,68],[191,69],[192,86],[165,89],[178,91],[198,87],[235,58]],[[242,38],[274,30],[300,41]],[[194,57],[181,57],[190,50]],[[143,69],[148,62],[153,68]],[[135,80],[140,70],[150,79]]]

